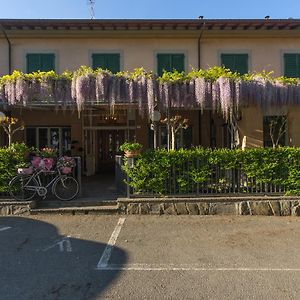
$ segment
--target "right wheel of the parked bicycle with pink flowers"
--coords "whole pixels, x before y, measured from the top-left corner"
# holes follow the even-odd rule
[[[63,201],[72,200],[78,192],[79,183],[71,176],[61,176],[53,184],[53,194]]]

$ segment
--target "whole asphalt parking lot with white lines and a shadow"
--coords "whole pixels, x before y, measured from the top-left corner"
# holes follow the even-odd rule
[[[0,218],[0,299],[299,299],[292,217]]]

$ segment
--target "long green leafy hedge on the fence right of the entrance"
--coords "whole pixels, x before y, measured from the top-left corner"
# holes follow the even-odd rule
[[[149,150],[135,159],[133,168],[126,162],[123,169],[136,192],[167,194],[166,181],[174,179],[170,174],[176,174],[176,184],[184,192],[191,183],[207,182],[215,166],[239,169],[256,183],[281,185],[289,194],[300,191],[300,148]]]

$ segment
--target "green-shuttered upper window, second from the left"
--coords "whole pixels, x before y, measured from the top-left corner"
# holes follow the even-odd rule
[[[119,53],[94,53],[92,54],[92,68],[109,70],[112,73],[120,72]]]

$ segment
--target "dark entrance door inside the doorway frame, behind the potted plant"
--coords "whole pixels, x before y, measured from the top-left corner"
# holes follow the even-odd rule
[[[96,172],[114,171],[115,155],[125,142],[125,133],[125,130],[117,129],[97,131]]]

